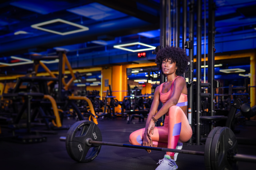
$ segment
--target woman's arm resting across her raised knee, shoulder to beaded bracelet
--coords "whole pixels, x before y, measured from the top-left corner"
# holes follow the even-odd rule
[[[161,109],[156,113],[156,115],[154,116],[155,119],[159,119],[161,116],[163,116],[164,114],[166,114],[168,112],[170,107],[177,105],[177,103],[180,99],[180,95],[183,90],[184,84],[186,84],[186,82],[183,77],[178,77],[174,81],[174,83],[173,83],[174,89],[173,89],[172,97],[168,101],[166,101],[164,106],[161,107]]]

